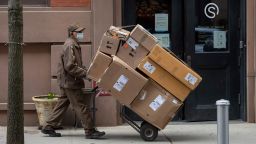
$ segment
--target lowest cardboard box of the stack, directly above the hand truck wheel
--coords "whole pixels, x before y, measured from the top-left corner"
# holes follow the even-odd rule
[[[180,100],[150,80],[130,108],[150,124],[164,129],[181,105]]]

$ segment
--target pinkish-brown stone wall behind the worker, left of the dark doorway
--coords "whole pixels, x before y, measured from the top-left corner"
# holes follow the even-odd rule
[[[8,96],[8,0],[0,2],[0,124],[6,124]],[[25,125],[37,125],[38,118],[32,96],[58,93],[56,67],[58,52],[67,38],[67,26],[78,23],[86,28],[81,43],[83,61],[88,67],[103,32],[115,25],[114,2],[99,0],[24,0],[24,113]],[[86,82],[86,87],[91,83]],[[111,96],[97,98],[97,124],[119,123],[119,105]],[[75,124],[69,109],[64,124]]]

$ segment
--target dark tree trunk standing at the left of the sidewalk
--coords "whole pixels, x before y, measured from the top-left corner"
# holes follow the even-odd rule
[[[7,144],[24,144],[23,14],[21,0],[9,0]]]

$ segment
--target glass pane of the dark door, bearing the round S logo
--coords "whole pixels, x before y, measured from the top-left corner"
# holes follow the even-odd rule
[[[195,52],[228,52],[228,0],[195,2]]]

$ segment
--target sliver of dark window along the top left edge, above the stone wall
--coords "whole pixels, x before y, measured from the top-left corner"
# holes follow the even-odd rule
[[[49,0],[23,0],[24,6],[48,6]],[[8,5],[8,0],[1,0],[0,5]]]

